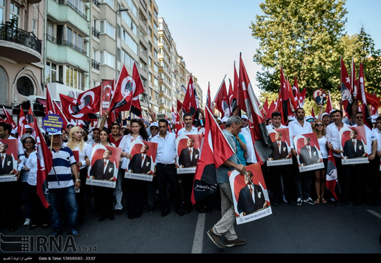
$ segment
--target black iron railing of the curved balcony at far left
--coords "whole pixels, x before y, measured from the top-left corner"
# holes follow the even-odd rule
[[[0,40],[27,46],[41,54],[41,40],[39,40],[33,32],[26,32],[16,26],[12,26],[10,22],[0,24]]]

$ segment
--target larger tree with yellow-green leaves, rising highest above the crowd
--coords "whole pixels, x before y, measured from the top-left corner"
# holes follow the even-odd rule
[[[265,15],[251,23],[252,35],[260,40],[254,61],[263,66],[257,73],[259,88],[278,92],[280,70],[307,96],[315,89],[339,88],[339,40],[347,13],[345,0],[266,0],[260,3]]]

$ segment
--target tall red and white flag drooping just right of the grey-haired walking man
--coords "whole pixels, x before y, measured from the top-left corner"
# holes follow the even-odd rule
[[[267,132],[265,120],[260,113],[259,102],[254,94],[249,76],[247,75],[245,65],[240,55],[240,87],[245,96],[245,112],[249,119],[249,129],[253,140],[256,158],[260,165],[265,163],[274,151],[272,140]]]

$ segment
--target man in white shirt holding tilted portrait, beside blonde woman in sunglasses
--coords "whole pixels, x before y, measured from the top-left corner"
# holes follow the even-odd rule
[[[288,124],[288,131],[290,132],[290,138],[294,138],[296,135],[300,134],[311,134],[312,126],[310,123],[304,120],[305,112],[303,108],[296,109],[295,112],[296,120],[293,120]],[[293,173],[296,174],[296,204],[300,206],[302,200],[304,202],[314,204],[314,201],[310,197],[311,183],[312,183],[312,172],[299,172],[298,161],[296,159],[297,152],[296,146],[294,145],[294,140],[291,140],[292,145],[292,167]]]

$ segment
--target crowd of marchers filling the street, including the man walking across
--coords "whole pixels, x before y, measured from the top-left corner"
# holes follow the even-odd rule
[[[33,136],[33,128],[26,125],[26,133],[21,136],[24,152],[19,152],[22,158],[19,157],[15,174],[18,180],[0,183],[2,200],[9,200],[1,202],[1,228],[8,224],[10,231],[17,229],[21,204],[24,206],[24,226],[29,226],[30,229],[39,226],[51,227],[53,229],[51,235],[62,235],[64,227],[61,217],[62,210],[65,210],[67,232],[78,236],[80,235],[78,226],[84,224],[89,216],[87,212],[89,207],[94,208],[99,221],[113,220],[114,215],[123,215],[123,211],[127,213],[129,219],[137,219],[142,216],[143,211],[152,213],[156,208],[160,208],[161,217],[166,217],[172,206],[178,215],[183,216],[192,212],[194,208],[198,212],[211,212],[213,199],[217,198],[221,201],[222,219],[208,230],[209,237],[220,248],[245,244],[245,239],[239,239],[233,227],[236,212],[233,207],[228,172],[236,169],[244,174],[246,165],[257,162],[247,116],[237,116],[236,112],[224,118],[214,116],[222,128],[222,134],[232,149],[235,149],[236,154],[216,170],[220,194],[212,195],[193,206],[191,194],[195,174],[177,174],[175,125],[171,125],[166,119],[157,120],[151,110],[149,114],[151,118],[149,124],[143,119],[132,119],[128,125],[121,126],[120,123],[114,122],[107,128],[105,124],[109,112],[106,111],[99,127],[91,128],[89,131],[76,126],[75,123],[69,123],[55,134],[46,134],[46,143],[51,145],[53,155],[53,168],[48,173],[50,204],[48,209],[42,205],[37,195],[37,143]],[[205,123],[202,109],[200,114],[202,122],[199,121],[199,124]],[[202,133],[202,125],[193,126],[192,114],[180,115],[185,127],[177,131],[178,136]],[[279,156],[284,154],[281,158],[292,158],[292,164],[267,166],[265,162],[262,165],[261,170],[269,191],[271,206],[278,206],[283,202],[291,206],[300,206],[302,203],[315,205],[334,200],[330,192],[326,191],[330,149],[335,158],[340,185],[339,200],[334,202],[337,205],[344,202],[360,206],[362,201],[366,201],[372,206],[380,205],[381,117],[373,118],[373,129],[364,125],[364,117],[362,112],[354,112],[352,118],[348,119],[344,117],[342,110],[333,110],[330,114],[322,114],[321,111],[317,118],[313,118],[305,116],[304,109],[299,108],[294,111],[294,117],[287,120],[287,125],[282,125],[281,113],[278,111],[272,113],[267,118],[267,129],[288,129],[291,143],[290,152],[282,153],[281,149],[284,147],[278,143],[274,145],[273,154]],[[369,163],[342,165],[343,151],[339,145],[339,130],[350,126],[364,126],[369,145],[366,152]],[[296,160],[298,152],[292,138],[310,133],[317,135],[324,167],[319,170],[299,172]],[[281,133],[276,134],[276,138],[281,136]],[[17,136],[12,134],[10,125],[0,123],[0,139],[12,138],[16,139]],[[157,143],[156,166],[152,181],[125,178],[127,160],[132,158],[130,144],[133,140]],[[5,143],[1,147],[3,145],[6,147]],[[115,189],[86,184],[87,174],[90,174],[90,178],[96,176],[89,170],[91,149],[94,145],[121,148]],[[74,158],[73,151],[79,152],[78,161]],[[112,151],[105,152],[105,155],[112,154]],[[8,174],[3,168],[3,158],[5,157],[2,155],[1,174]],[[109,164],[105,162],[104,165],[106,167]],[[91,203],[92,199],[94,203]],[[224,243],[220,239],[222,235],[226,237]]]

